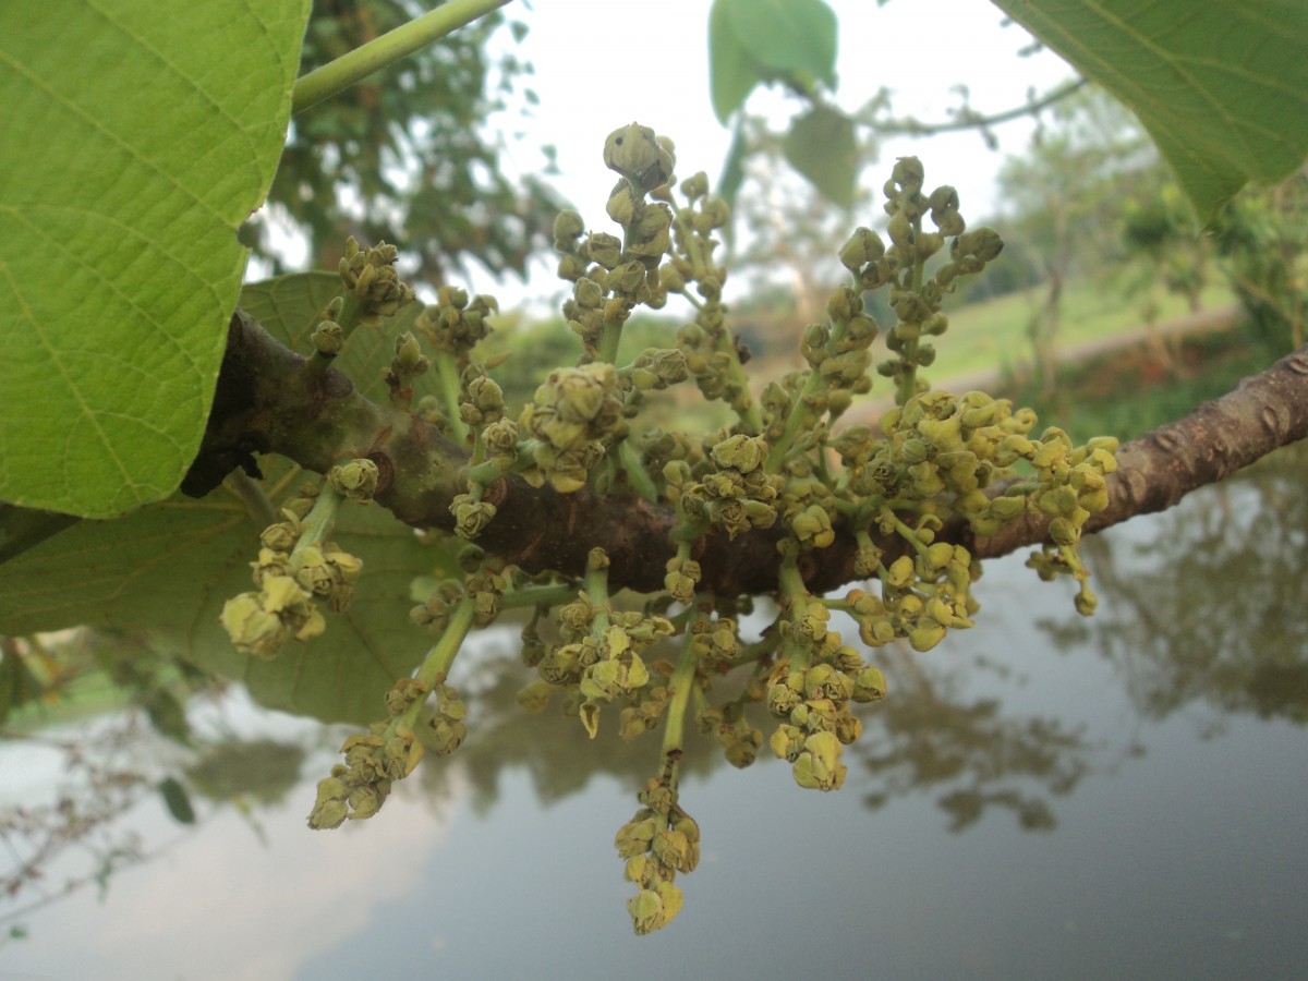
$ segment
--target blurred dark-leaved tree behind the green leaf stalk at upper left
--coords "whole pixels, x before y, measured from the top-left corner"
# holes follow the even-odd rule
[[[412,0],[315,0],[302,72],[377,38],[422,12]],[[484,17],[292,122],[268,201],[309,238],[313,268],[336,268],[348,235],[403,242],[412,280],[438,285],[476,260],[526,275],[561,207],[535,177],[501,169],[502,136],[490,116],[525,84],[531,65],[502,50],[502,14]],[[526,34],[508,24],[514,42]],[[492,35],[494,42],[492,43]],[[534,101],[530,89],[527,102]],[[549,150],[547,149],[547,154]],[[286,271],[267,217],[247,242],[275,272]]]

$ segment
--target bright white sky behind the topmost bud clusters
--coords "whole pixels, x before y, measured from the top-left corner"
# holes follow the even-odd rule
[[[1003,13],[986,0],[891,0],[886,7],[874,0],[828,3],[840,20],[836,102],[846,110],[887,85],[896,93],[897,116],[944,120],[947,110],[959,105],[954,86],[967,82],[972,107],[989,114],[1020,105],[1029,88],[1045,93],[1074,75],[1048,51],[1019,58],[1031,37],[1016,25],[1002,27]],[[596,229],[607,226],[604,201],[613,183],[600,149],[619,126],[634,120],[671,136],[678,173],[705,170],[715,181],[730,133],[713,115],[709,95],[709,0],[534,0],[530,8],[523,3],[505,8],[510,18],[530,25],[518,50],[535,65],[532,88],[540,95],[531,118],[505,118],[506,132],[526,135],[522,143],[510,141],[509,165],[538,170],[543,158],[532,148],[552,143],[561,170],[552,178],[555,186]],[[795,106],[756,89],[748,107],[778,114],[780,122]],[[988,150],[974,132],[899,139],[884,145],[882,164],[904,154],[922,157],[930,184],[954,184],[964,213],[981,215],[990,211],[1005,153],[1019,153],[1029,131],[1025,120],[999,127],[998,153]],[[879,169],[865,177],[878,184],[883,179]],[[472,285],[493,289],[501,302],[513,305],[551,296],[557,280],[543,271],[526,289],[489,279]]]

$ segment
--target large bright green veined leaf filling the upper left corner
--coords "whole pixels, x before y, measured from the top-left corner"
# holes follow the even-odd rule
[[[0,500],[109,517],[195,455],[309,0],[7,0]]]

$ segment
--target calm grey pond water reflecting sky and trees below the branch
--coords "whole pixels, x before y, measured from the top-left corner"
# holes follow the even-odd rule
[[[651,937],[612,840],[657,738],[523,715],[493,642],[456,667],[480,689],[468,743],[337,832],[305,815],[340,732],[239,693],[194,704],[249,749],[235,782],[191,786],[194,827],[139,797],[0,903],[0,978],[1304,977],[1305,471],[1273,460],[1099,536],[1091,620],[1023,557],[989,565],[974,629],[880,658],[889,696],[840,791],[693,746],[702,862]],[[179,752],[115,725],[88,755]],[[4,803],[71,780],[63,760],[5,747]],[[102,888],[59,895],[114,848]]]

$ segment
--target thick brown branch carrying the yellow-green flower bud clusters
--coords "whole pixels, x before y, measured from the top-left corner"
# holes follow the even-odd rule
[[[1305,437],[1308,345],[1244,379],[1222,399],[1126,443],[1109,479],[1109,508],[1091,519],[1090,528],[1171,508],[1196,488]],[[276,453],[319,473],[337,460],[368,456],[381,470],[377,501],[420,528],[453,530],[450,502],[467,489],[466,450],[422,419],[368,400],[340,371],[310,370],[305,358],[238,310],[200,454],[182,489],[201,497],[232,470],[252,470],[256,453]],[[615,589],[651,593],[663,587],[664,562],[674,553],[671,509],[634,494],[598,497],[585,489],[560,494],[518,476],[501,479],[483,497],[498,509],[477,538],[488,552],[527,572],[581,576],[590,549],[600,547],[610,556]],[[938,540],[994,557],[1044,542],[1046,530],[1044,515],[1032,514],[998,535],[974,539],[959,521]],[[695,548],[704,573],[701,589],[723,596],[776,590],[781,536],[780,527],[734,540],[717,532],[704,536]],[[888,552],[887,561],[904,548],[897,538],[879,544]],[[806,553],[800,572],[808,587],[831,590],[857,578],[855,551],[853,535],[838,534],[831,547]]]

